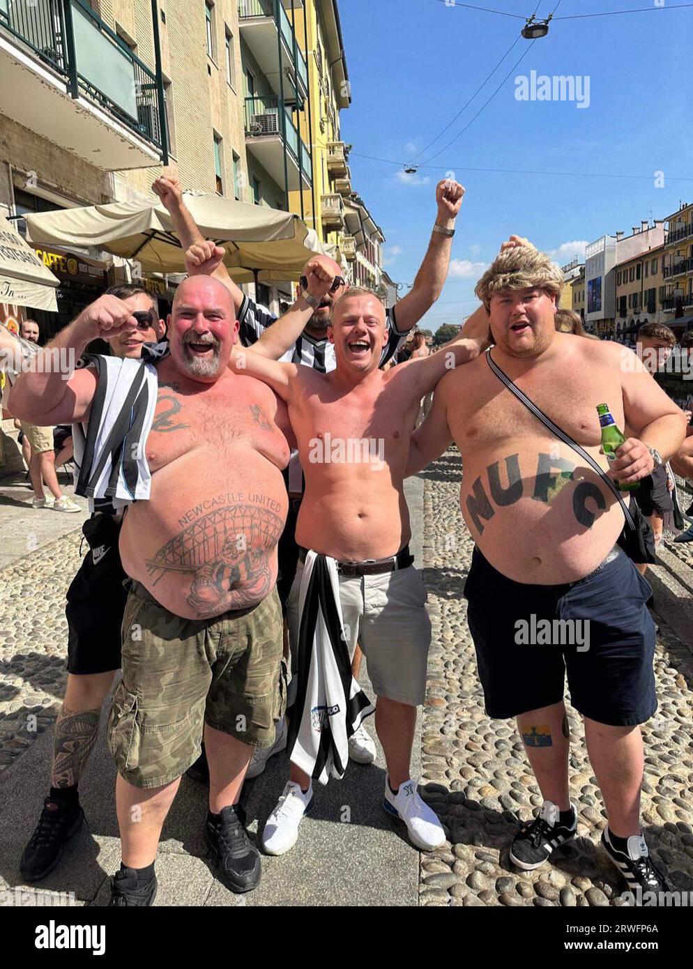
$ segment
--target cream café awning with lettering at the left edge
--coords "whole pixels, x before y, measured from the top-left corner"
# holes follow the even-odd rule
[[[0,215],[0,303],[57,313],[55,290],[59,285],[60,280]]]

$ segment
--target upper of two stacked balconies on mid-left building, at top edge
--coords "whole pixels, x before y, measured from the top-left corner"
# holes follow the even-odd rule
[[[0,0],[2,2],[2,0]],[[308,94],[308,65],[296,43],[291,20],[279,0],[238,0],[238,26],[245,43],[265,75],[275,94],[280,94],[277,62],[279,40],[284,47],[288,62],[295,66],[298,87],[304,97]],[[286,89],[284,96],[287,96]]]

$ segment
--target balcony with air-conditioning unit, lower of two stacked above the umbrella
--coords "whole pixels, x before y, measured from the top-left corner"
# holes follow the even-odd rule
[[[310,152],[279,98],[245,99],[245,143],[283,189],[290,192],[313,183]],[[286,156],[286,164],[285,164]]]

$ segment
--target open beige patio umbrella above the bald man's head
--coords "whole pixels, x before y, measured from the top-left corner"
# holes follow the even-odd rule
[[[298,280],[310,254],[327,253],[298,215],[218,195],[185,193],[185,203],[208,239],[226,249],[224,264],[237,283]],[[183,252],[169,212],[151,203],[88,205],[26,216],[32,242],[96,246],[138,260],[145,272],[185,272]]]

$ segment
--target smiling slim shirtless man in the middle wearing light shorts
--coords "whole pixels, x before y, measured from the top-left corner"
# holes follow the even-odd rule
[[[480,328],[482,339],[487,326]],[[299,569],[289,599],[292,663],[296,667],[302,563],[312,550],[337,562],[350,654],[358,639],[368,663],[377,695],[375,728],[388,766],[385,808],[404,822],[418,848],[432,850],[445,834],[410,777],[430,623],[424,582],[408,551],[403,478],[421,398],[446,367],[476,356],[479,344],[459,337],[438,354],[383,372],[378,364],[388,340],[385,308],[359,287],[334,304],[328,334],[336,359],[331,373],[257,359],[251,351],[238,354],[236,363],[287,401],[305,475],[296,530]],[[332,453],[339,442],[347,453],[350,444],[365,443],[361,453],[377,453],[377,460],[321,458],[321,449]],[[296,843],[299,822],[312,803],[311,778],[292,763],[263,832],[268,854],[282,855]]]

